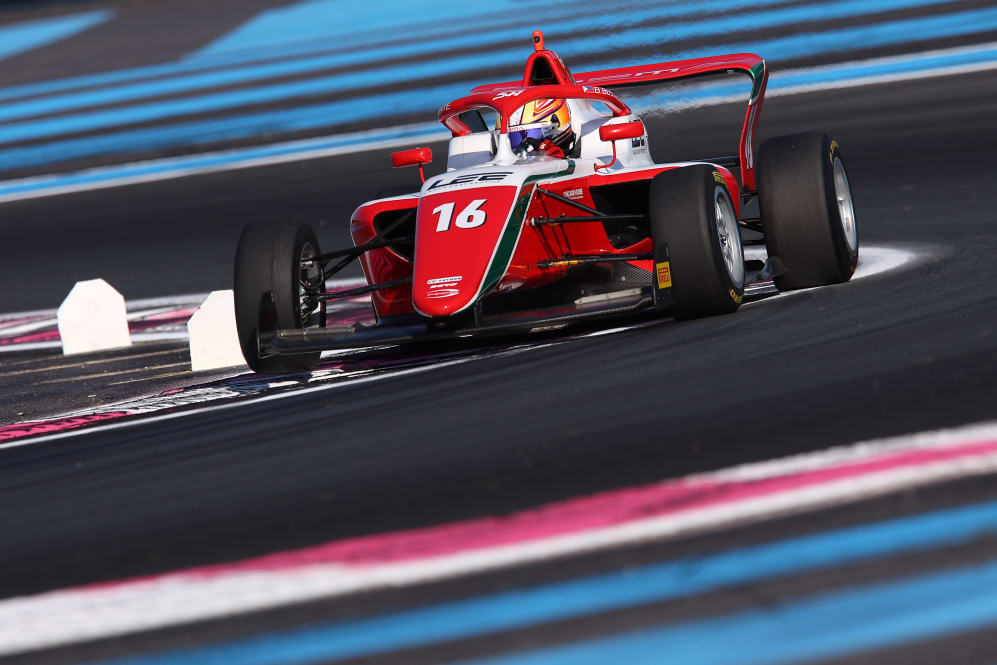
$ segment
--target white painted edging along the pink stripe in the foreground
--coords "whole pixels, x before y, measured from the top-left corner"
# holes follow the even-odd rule
[[[682,484],[778,478],[841,466],[897,451],[939,449],[997,438],[997,422],[836,447],[697,474]],[[11,654],[203,621],[392,586],[407,586],[539,561],[717,530],[818,508],[854,503],[902,489],[997,472],[997,453],[965,457],[776,489],[758,497],[611,526],[469,549],[394,563],[319,563],[212,575],[169,573],[97,588],[53,591],[0,601],[0,653]]]

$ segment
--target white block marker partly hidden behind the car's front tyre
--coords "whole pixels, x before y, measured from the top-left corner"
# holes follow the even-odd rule
[[[195,372],[245,365],[235,329],[235,299],[231,289],[212,291],[187,322],[190,368]]]

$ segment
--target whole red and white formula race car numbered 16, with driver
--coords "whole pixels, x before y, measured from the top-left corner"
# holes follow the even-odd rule
[[[235,262],[243,354],[262,373],[307,371],[327,349],[530,332],[638,311],[727,314],[745,287],[844,282],[858,261],[845,162],[820,133],[766,141],[768,72],[753,54],[572,75],[543,35],[522,80],[445,104],[447,169],[420,191],[364,203],[354,247],[323,252],[306,224],[248,225]],[[737,156],[655,164],[613,89],[741,72],[751,79]],[[392,155],[432,162],[429,148]],[[742,210],[757,199],[754,217]],[[742,242],[742,229],[746,238]],[[744,244],[767,260],[745,260]],[[359,259],[367,286],[327,292]],[[326,303],[370,294],[373,325],[326,327]]]

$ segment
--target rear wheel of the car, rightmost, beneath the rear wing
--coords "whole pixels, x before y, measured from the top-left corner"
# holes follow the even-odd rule
[[[838,284],[858,265],[852,191],[837,141],[811,132],[769,139],[758,153],[758,202],[781,290]]]

